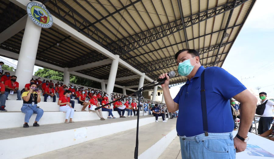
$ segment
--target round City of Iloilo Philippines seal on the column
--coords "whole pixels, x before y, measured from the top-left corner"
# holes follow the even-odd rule
[[[37,2],[30,2],[27,5],[27,14],[30,19],[43,28],[50,28],[53,24],[51,13]]]

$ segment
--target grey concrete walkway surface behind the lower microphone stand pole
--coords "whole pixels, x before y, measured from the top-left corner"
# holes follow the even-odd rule
[[[171,119],[167,123],[159,121],[139,127],[139,155],[175,128],[176,119]],[[135,139],[136,129],[131,129],[29,159],[129,159],[134,158]]]

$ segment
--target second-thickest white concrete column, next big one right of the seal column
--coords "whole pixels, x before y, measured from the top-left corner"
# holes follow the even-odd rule
[[[111,70],[108,76],[108,81],[107,81],[107,89],[106,92],[109,95],[108,97],[110,98],[110,94],[113,92],[114,84],[115,84],[115,79],[116,79],[116,73],[118,69],[118,64],[119,64],[119,55],[116,55],[116,59],[112,60],[111,63]]]

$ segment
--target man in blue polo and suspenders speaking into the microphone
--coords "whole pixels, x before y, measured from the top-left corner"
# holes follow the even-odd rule
[[[175,60],[178,73],[188,80],[174,99],[170,96],[167,73],[159,78],[167,78],[161,86],[168,111],[180,112],[176,129],[182,158],[235,158],[235,152],[246,149],[248,130],[255,115],[256,97],[222,68],[202,67],[196,50],[180,50]],[[241,123],[235,138],[232,135],[234,123],[229,102],[232,97],[241,102]]]

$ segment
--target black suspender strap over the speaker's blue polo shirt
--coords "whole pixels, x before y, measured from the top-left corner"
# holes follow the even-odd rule
[[[207,111],[206,111],[205,70],[202,72],[202,75],[201,75],[201,102],[202,102],[204,132],[205,132],[205,136],[208,136]]]

